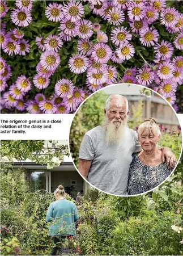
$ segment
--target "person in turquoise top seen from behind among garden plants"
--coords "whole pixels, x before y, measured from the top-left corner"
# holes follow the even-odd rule
[[[64,246],[67,237],[76,235],[75,221],[79,219],[78,210],[73,202],[65,198],[63,186],[59,185],[54,192],[56,202],[49,205],[46,221],[50,221],[49,236],[53,236],[55,246],[51,255],[56,255],[59,245],[63,254],[69,253],[69,247]]]

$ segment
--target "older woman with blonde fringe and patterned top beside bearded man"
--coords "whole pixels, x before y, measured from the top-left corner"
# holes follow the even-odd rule
[[[129,195],[137,195],[149,191],[163,182],[172,170],[162,162],[162,151],[158,148],[160,130],[156,121],[146,119],[138,129],[138,139],[142,151],[133,154],[129,173]]]

